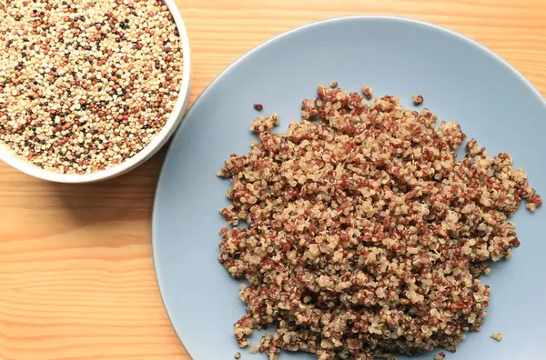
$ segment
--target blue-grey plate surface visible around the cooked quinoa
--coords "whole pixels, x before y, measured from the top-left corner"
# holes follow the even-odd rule
[[[278,111],[284,131],[299,119],[300,101],[319,83],[348,91],[371,85],[375,95],[412,94],[440,119],[454,119],[490,154],[508,152],[546,195],[546,103],[510,65],[470,39],[412,20],[357,16],[306,25],[269,40],[229,66],[207,87],[177,130],[163,165],[153,215],[157,279],[167,313],[194,360],[230,359],[238,350],[233,324],[244,315],[238,282],[217,262],[229,181],[216,176],[232,153],[245,154],[256,137],[248,127]],[[521,246],[496,264],[489,316],[448,354],[456,359],[542,358],[546,335],[546,213],[514,216]],[[501,332],[504,339],[490,339]],[[241,351],[243,358],[247,350]],[[264,358],[256,355],[256,358]],[[431,354],[414,357],[430,359]],[[283,354],[281,359],[312,359]],[[403,356],[400,358],[404,358]]]

